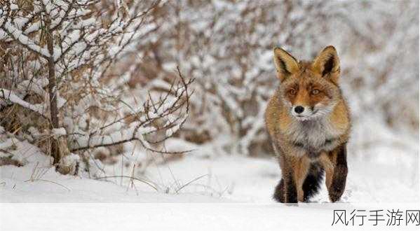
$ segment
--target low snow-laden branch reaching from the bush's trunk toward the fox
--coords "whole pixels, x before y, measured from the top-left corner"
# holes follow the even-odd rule
[[[189,90],[189,85],[193,80],[186,80],[178,69],[179,82],[176,87],[170,87],[173,92],[167,92],[164,96],[159,97],[160,102],[154,102],[149,97],[143,104],[143,108],[135,113],[135,122],[130,123],[128,127],[121,127],[118,131],[109,134],[103,134],[110,126],[115,125],[124,118],[116,118],[114,122],[109,125],[104,125],[98,130],[83,134],[81,132],[72,134],[72,147],[71,151],[83,151],[86,149],[115,146],[130,141],[139,141],[142,146],[153,152],[157,153],[170,153],[167,151],[159,151],[152,148],[150,144],[157,144],[172,137],[185,123],[189,113],[189,98],[192,91]],[[172,85],[175,85],[172,83]],[[173,95],[172,95],[173,94]],[[170,97],[171,96],[171,97]],[[156,125],[157,121],[166,121],[165,125]],[[157,140],[149,140],[151,134],[164,131]],[[183,153],[178,151],[176,153]]]

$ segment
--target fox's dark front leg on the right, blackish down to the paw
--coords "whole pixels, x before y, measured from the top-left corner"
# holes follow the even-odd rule
[[[342,144],[332,151],[332,158],[335,161],[334,169],[332,170],[331,183],[328,187],[328,194],[331,202],[337,202],[346,188],[347,179],[347,150],[346,144]]]

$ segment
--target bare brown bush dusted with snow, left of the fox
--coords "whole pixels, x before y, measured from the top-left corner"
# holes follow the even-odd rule
[[[1,1],[1,126],[50,153],[62,173],[74,171],[73,153],[93,148],[140,141],[163,152],[151,145],[186,120],[192,81],[178,70],[165,92],[144,89],[130,104],[126,78],[109,77],[133,41],[155,29],[159,4]]]

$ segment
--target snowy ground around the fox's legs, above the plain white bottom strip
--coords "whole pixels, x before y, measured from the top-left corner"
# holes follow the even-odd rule
[[[172,141],[171,146],[176,144]],[[185,147],[188,144],[182,145]],[[140,181],[134,181],[135,187],[130,186],[130,179],[121,177],[100,181],[88,179],[83,174],[62,176],[50,166],[50,158],[36,147],[27,142],[17,142],[16,146],[11,153],[22,153],[16,156],[29,163],[24,167],[0,167],[0,182],[3,184],[1,202],[275,203],[271,195],[280,179],[280,169],[273,158],[247,158],[241,155],[208,158],[195,155],[205,150],[189,146],[186,148],[196,150],[184,158],[149,166],[144,174],[136,174],[136,177],[156,184],[156,193]],[[381,160],[383,155],[393,157],[395,151],[398,149],[371,150],[372,153],[364,154],[370,155],[371,160],[350,156],[348,181],[341,202],[419,202],[419,166],[416,164],[419,156],[406,153],[406,161],[403,158],[387,162]],[[79,156],[70,155],[69,158],[78,160]],[[108,173],[107,176],[121,175],[121,171],[122,175],[130,175],[130,168],[115,169],[118,166],[121,166],[121,162],[104,171]],[[325,186],[311,200],[317,204],[328,201]]]

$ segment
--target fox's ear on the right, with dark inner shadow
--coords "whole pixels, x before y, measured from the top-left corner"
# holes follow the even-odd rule
[[[320,73],[321,76],[330,75],[336,81],[340,73],[340,60],[337,50],[332,45],[322,50],[312,62],[313,71]]]

